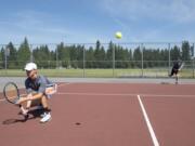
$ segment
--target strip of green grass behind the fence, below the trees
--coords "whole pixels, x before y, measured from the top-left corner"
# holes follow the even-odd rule
[[[164,68],[153,69],[39,69],[40,75],[48,77],[77,77],[77,78],[128,78],[128,77],[168,77],[168,70]],[[193,78],[193,69],[183,69],[182,78]],[[1,69],[0,77],[26,77],[22,69]]]

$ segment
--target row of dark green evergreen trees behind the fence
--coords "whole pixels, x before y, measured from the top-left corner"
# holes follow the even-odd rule
[[[32,52],[31,52],[32,48]],[[171,61],[191,61],[194,56],[194,44],[183,41],[181,47],[174,45],[167,49],[128,48],[115,44],[112,41],[107,47],[100,41],[93,47],[86,48],[84,44],[66,45],[63,42],[55,48],[39,45],[34,48],[28,43],[27,38],[16,48],[12,42],[2,45],[0,50],[0,68],[23,68],[27,62],[34,61],[41,68],[136,68],[165,67],[168,66],[169,55]],[[5,58],[6,56],[6,58]],[[115,62],[113,62],[115,61]]]

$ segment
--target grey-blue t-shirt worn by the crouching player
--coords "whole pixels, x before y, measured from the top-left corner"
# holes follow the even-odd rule
[[[44,93],[46,88],[50,84],[52,84],[52,82],[44,76],[38,76],[35,80],[31,80],[30,78],[25,80],[27,94],[31,92]]]

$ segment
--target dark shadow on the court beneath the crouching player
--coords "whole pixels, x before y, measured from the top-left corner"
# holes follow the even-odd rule
[[[18,112],[18,115],[21,115],[23,118],[20,119],[6,119],[2,122],[2,124],[13,124],[13,123],[17,123],[17,122],[26,122],[27,120],[32,120],[36,118],[40,118],[40,115],[43,114],[43,109],[32,109],[30,111],[28,111],[28,116],[23,116],[21,112]]]

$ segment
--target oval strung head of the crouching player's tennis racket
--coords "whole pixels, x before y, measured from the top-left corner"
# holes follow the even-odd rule
[[[20,99],[20,91],[14,82],[8,82],[4,85],[3,94],[5,99],[11,104],[16,105],[17,101]]]

